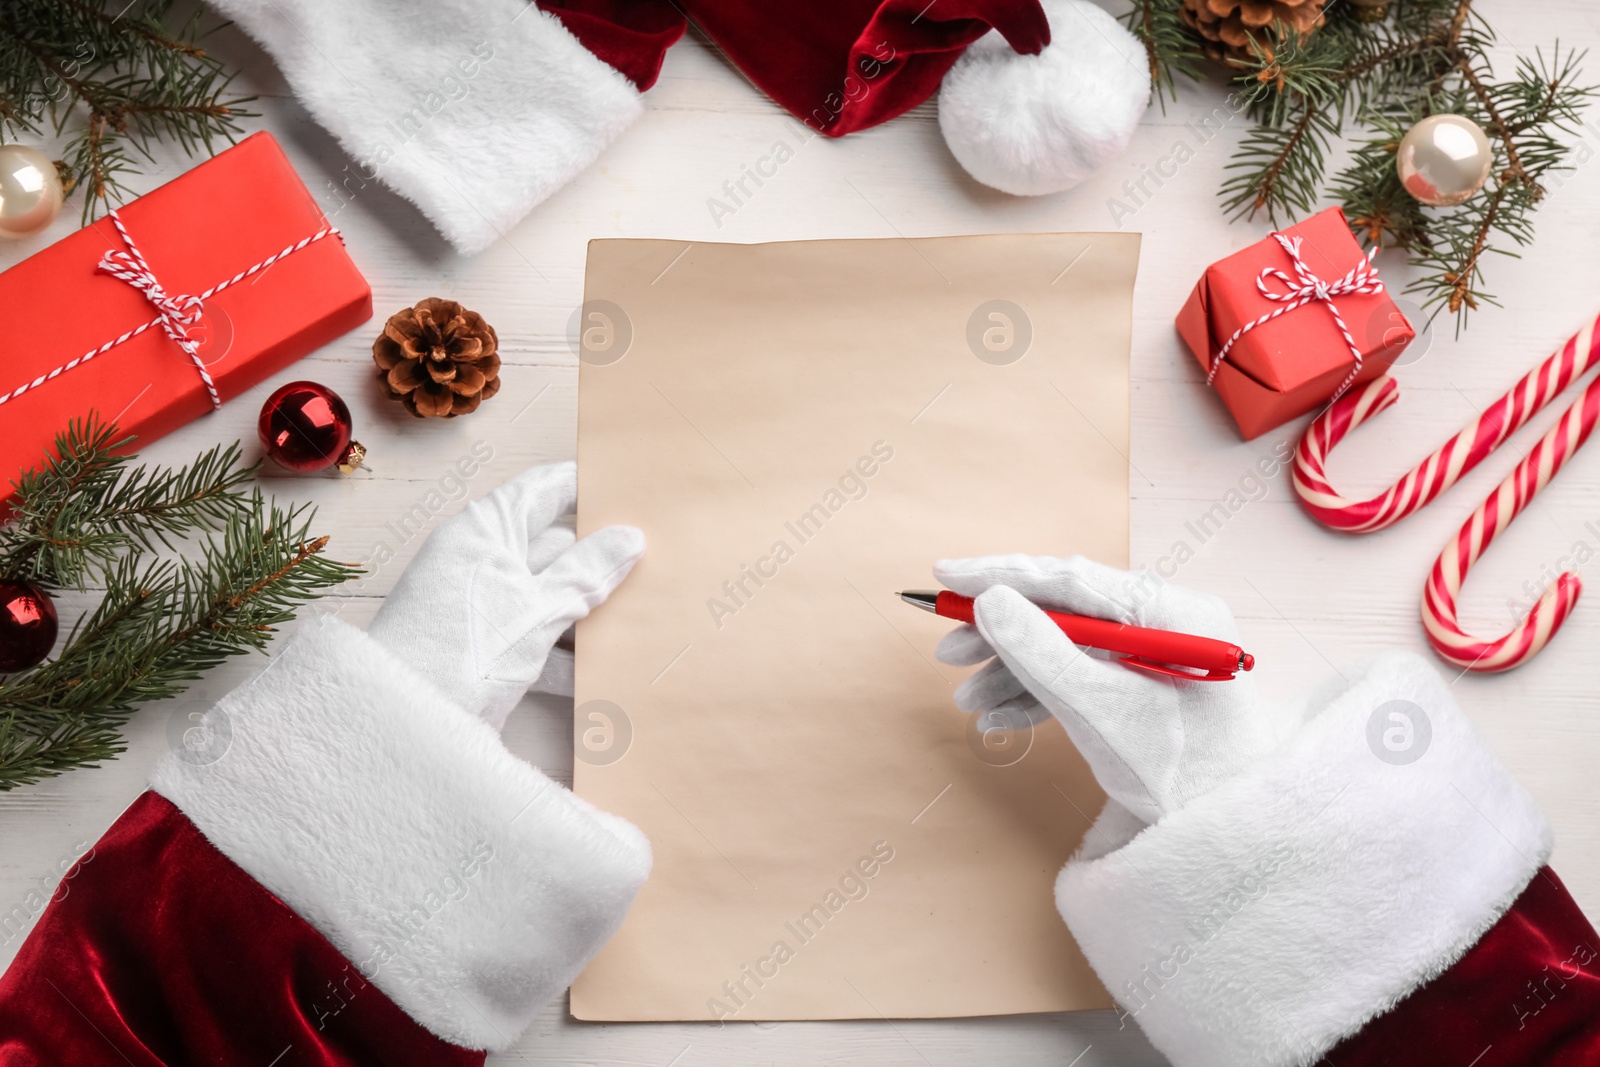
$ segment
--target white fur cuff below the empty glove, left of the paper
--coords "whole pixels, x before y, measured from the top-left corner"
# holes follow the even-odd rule
[[[466,1048],[510,1046],[650,873],[630,822],[514,757],[333,617],[200,731],[210,744],[163,758],[150,787],[344,953],[360,973],[346,990],[370,982]]]

